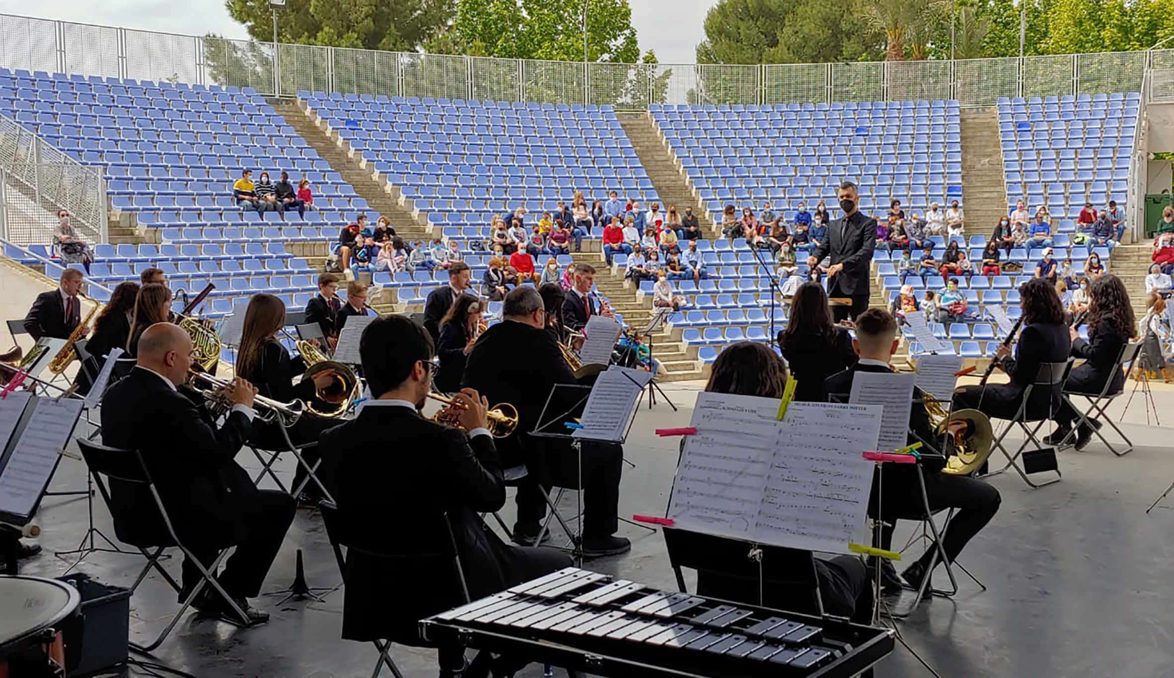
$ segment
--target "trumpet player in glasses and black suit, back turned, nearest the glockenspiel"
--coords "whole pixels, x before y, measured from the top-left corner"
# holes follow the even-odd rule
[[[319,443],[323,479],[344,520],[357,523],[352,529],[376,535],[377,543],[394,542],[397,529],[389,521],[447,511],[472,599],[568,567],[571,558],[560,551],[502,543],[478,516],[506,500],[501,462],[486,429],[487,401],[472,389],[454,395],[467,435],[420,416],[431,389],[427,332],[403,316],[378,318],[364,331],[359,353],[372,399]],[[392,435],[380,445],[373,442],[375,430]],[[396,543],[392,550],[411,552],[411,547]],[[419,644],[417,619],[463,602],[450,568],[410,562],[392,564],[356,549],[348,554],[344,638]]]

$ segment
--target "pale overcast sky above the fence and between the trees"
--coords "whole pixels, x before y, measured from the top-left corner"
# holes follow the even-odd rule
[[[704,38],[702,23],[715,0],[629,0],[632,23],[641,49],[654,49],[661,63],[693,63],[694,47]],[[85,11],[79,12],[85,5]],[[82,21],[203,35],[244,39],[223,0],[0,0],[0,14]]]

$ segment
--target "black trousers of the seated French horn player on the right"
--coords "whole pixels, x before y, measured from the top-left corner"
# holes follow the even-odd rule
[[[898,469],[893,469],[898,470]],[[886,523],[880,528],[880,544],[891,550],[893,523],[897,518],[920,520],[925,517],[922,504],[922,491],[918,487],[915,469],[899,469],[899,473],[886,473],[882,476],[880,518]],[[945,473],[925,472],[925,496],[930,510],[957,509],[946,527],[946,536],[942,548],[951,562],[962,552],[966,542],[991,522],[999,510],[1001,497],[999,490],[984,481],[972,477],[950,475]],[[869,500],[869,515],[876,517],[877,491],[873,487]],[[920,562],[927,564],[933,550],[926,550]]]

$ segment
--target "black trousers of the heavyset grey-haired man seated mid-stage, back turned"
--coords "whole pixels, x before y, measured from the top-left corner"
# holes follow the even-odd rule
[[[612,442],[582,442],[582,484],[579,483],[579,454],[568,445],[538,442],[526,463],[549,493],[551,487],[583,490],[583,537],[607,537],[619,529],[620,474],[623,447]],[[518,488],[518,521],[514,533],[535,535],[546,516],[546,500],[538,486]]]

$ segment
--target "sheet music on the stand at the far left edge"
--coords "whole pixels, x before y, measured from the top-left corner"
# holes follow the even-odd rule
[[[75,398],[36,401],[28,425],[12,443],[0,469],[0,513],[29,516],[36,506],[60,452],[69,442],[85,402]]]

